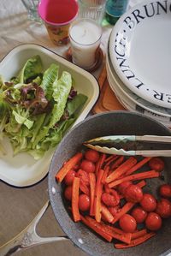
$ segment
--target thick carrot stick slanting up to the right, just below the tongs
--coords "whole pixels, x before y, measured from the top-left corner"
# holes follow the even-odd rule
[[[113,171],[107,178],[106,182],[110,183],[118,179],[120,176],[125,174],[127,170],[130,170],[130,168],[133,167],[137,163],[136,158],[128,158],[123,164],[121,164],[115,171]]]

